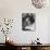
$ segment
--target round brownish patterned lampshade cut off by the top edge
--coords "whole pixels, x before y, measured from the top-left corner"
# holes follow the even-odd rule
[[[47,4],[47,0],[32,0],[32,3],[35,8],[41,9]]]

